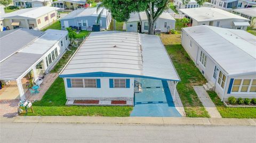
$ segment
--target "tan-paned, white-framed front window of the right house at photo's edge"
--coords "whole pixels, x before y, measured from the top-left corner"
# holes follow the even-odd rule
[[[235,79],[232,92],[256,92],[256,79]]]

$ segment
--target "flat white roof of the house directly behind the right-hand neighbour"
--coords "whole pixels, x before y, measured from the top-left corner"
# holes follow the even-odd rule
[[[185,13],[190,18],[201,22],[201,21],[211,21],[211,20],[222,20],[222,19],[241,19],[249,21],[249,19],[243,18],[242,16],[217,9],[212,7],[197,7],[193,9],[180,9],[182,13]]]

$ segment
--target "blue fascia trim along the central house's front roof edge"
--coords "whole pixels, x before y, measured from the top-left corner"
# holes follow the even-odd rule
[[[122,74],[122,73],[111,73],[111,72],[90,72],[90,73],[76,73],[76,74],[61,74],[60,78],[83,78],[83,77],[119,77],[119,78],[147,78],[147,79],[158,79],[158,80],[170,80],[170,81],[180,81],[156,77],[147,77],[143,75],[133,75],[133,74]]]

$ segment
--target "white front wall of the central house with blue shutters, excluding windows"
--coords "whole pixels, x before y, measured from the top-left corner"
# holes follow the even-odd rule
[[[108,78],[108,77],[90,77],[83,79],[100,79],[100,88],[68,88],[67,78],[65,82],[65,91],[67,99],[86,99],[86,98],[133,98],[134,96],[134,78]],[[70,78],[72,79],[72,78]],[[78,79],[78,78],[75,78]],[[130,88],[110,88],[109,79],[130,79]]]

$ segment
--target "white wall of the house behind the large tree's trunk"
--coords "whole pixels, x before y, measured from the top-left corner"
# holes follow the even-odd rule
[[[144,29],[145,22],[148,22],[148,21],[142,20],[141,22],[141,32],[148,32],[148,30]],[[166,28],[164,27],[164,22],[167,22]],[[168,32],[168,29],[167,29],[168,26],[170,27],[170,29],[175,29],[175,22],[176,22],[175,20],[158,18],[156,21],[156,29],[161,29],[161,32]]]

